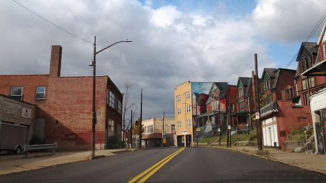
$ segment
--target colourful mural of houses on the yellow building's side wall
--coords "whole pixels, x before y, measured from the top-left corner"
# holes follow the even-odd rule
[[[194,127],[200,128],[198,138],[212,137],[217,134],[218,111],[220,113],[226,112],[225,91],[228,88],[228,83],[192,82],[191,87],[193,92],[192,105],[196,109],[193,112]],[[196,139],[196,134],[194,138]]]

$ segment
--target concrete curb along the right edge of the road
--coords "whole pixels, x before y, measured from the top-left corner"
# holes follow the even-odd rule
[[[252,156],[255,156],[255,157],[260,157],[260,158],[263,158],[263,159],[271,160],[273,162],[279,162],[279,163],[282,163],[282,164],[287,164],[287,165],[290,165],[290,166],[295,166],[297,168],[301,168],[301,169],[304,169],[304,170],[307,170],[307,171],[314,171],[316,173],[320,173],[320,174],[326,175],[326,172],[325,171],[321,171],[321,170],[318,170],[318,169],[309,168],[309,167],[305,167],[305,166],[300,166],[298,164],[291,164],[291,163],[288,163],[288,162],[284,162],[284,161],[282,161],[280,159],[275,159],[273,157],[266,157],[266,156],[256,155],[255,153],[250,153],[250,151],[246,152],[246,151],[238,150],[238,149],[235,149],[235,148],[226,148],[226,147],[220,147],[220,146],[217,146],[217,147],[209,147],[209,148],[221,148],[221,149],[225,149],[225,150],[232,150],[234,152],[239,152],[239,153],[246,154],[246,155],[252,155]]]

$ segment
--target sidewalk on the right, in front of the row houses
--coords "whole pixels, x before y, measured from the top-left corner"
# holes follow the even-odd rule
[[[225,147],[217,147],[217,148],[225,148]],[[232,146],[232,148],[225,148],[225,149],[231,149],[250,155],[256,155],[256,151],[258,150],[257,147],[254,146]],[[264,157],[266,159],[271,159],[276,162],[282,162],[284,164],[297,166],[299,168],[304,168],[309,171],[316,171],[318,173],[323,173],[326,175],[326,155],[290,153],[283,150],[272,149],[272,148],[264,148],[264,150],[269,151],[268,157]]]

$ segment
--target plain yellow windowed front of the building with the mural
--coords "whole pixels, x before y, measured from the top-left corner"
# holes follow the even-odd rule
[[[187,81],[174,89],[175,100],[175,132],[177,134],[178,146],[192,147],[194,144],[194,123],[193,110],[196,114],[196,107],[192,105],[191,82]],[[185,143],[186,142],[186,143]]]

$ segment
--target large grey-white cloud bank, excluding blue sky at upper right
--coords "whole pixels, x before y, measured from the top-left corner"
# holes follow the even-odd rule
[[[252,23],[259,16],[268,19],[258,10],[252,19],[221,19],[181,12],[169,5],[155,9],[151,1],[144,5],[135,0],[19,2],[89,42],[96,35],[98,49],[132,40],[98,54],[96,71],[98,76],[108,74],[121,92],[123,85],[132,84],[130,102],[140,100],[142,88],[144,119],[160,116],[163,111],[173,116],[174,89],[188,80],[236,85],[239,76],[251,75],[254,53],[259,55],[259,67],[277,65],[266,44],[257,38],[268,31],[268,24],[259,25],[257,32]],[[264,8],[263,1],[258,3]],[[0,7],[0,28],[1,74],[49,73],[51,45],[60,44],[62,76],[92,75],[88,66],[92,44],[68,35],[12,1]],[[268,36],[277,34],[266,32]]]

